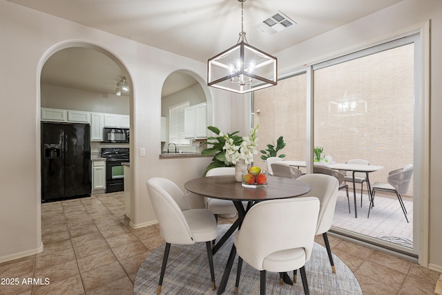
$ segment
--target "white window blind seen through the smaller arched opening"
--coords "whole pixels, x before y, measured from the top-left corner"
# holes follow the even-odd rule
[[[169,142],[177,146],[189,146],[190,141],[184,138],[184,108],[190,102],[182,102],[169,107]]]

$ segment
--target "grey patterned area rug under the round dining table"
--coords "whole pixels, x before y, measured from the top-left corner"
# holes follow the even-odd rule
[[[218,240],[230,225],[218,226]],[[224,267],[229,258],[233,237],[213,256],[216,286],[221,282]],[[164,254],[164,245],[157,247],[138,269],[134,284],[134,294],[153,295],[157,292],[158,280]],[[305,265],[311,294],[363,294],[353,272],[337,256],[333,256],[336,274],[332,273],[327,250],[315,242],[313,254]],[[233,263],[229,281],[224,294],[233,294],[235,290],[238,256]],[[291,274],[289,274],[292,276]],[[298,272],[298,283],[280,285],[279,274],[267,272],[267,294],[304,294]],[[259,294],[260,272],[242,264],[238,294]],[[171,245],[166,274],[161,294],[216,294],[211,289],[209,263],[204,242],[196,245]]]

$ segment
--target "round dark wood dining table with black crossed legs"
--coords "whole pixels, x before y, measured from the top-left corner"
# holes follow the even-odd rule
[[[267,178],[267,187],[249,188],[243,187],[241,182],[236,182],[233,175],[210,176],[189,180],[184,184],[187,191],[210,198],[221,200],[231,200],[238,211],[238,219],[231,225],[229,230],[213,247],[213,254],[224,244],[224,242],[241,226],[242,220],[247,210],[255,203],[265,200],[293,198],[308,193],[311,188],[309,184],[299,180],[289,178],[279,178],[271,176]],[[242,201],[247,201],[247,209],[242,206]],[[236,256],[236,247],[232,246],[229,258],[227,260],[218,294],[222,294],[229,280],[233,260]],[[287,276],[287,274],[286,274]],[[287,278],[287,277],[285,277]]]

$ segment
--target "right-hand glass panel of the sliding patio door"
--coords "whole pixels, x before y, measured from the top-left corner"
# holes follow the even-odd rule
[[[334,162],[366,160],[383,166],[369,173],[368,183],[390,187],[391,171],[414,164],[414,103],[413,38],[318,64],[314,67],[314,145]],[[347,180],[352,178],[351,171],[342,172]],[[419,202],[419,196],[414,196],[412,179],[398,178],[406,182],[400,196],[378,190],[371,208],[367,182],[354,188],[347,181],[352,213],[341,190],[334,229],[411,252],[413,202]],[[358,218],[353,212],[354,189]]]

